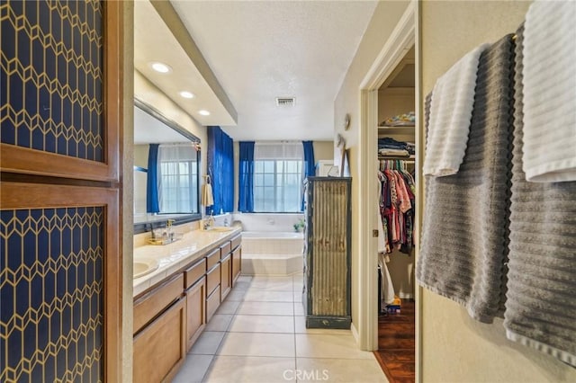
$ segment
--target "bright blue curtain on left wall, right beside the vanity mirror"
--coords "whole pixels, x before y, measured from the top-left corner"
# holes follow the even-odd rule
[[[206,214],[228,213],[234,209],[234,142],[220,127],[208,127],[208,175],[214,205]]]

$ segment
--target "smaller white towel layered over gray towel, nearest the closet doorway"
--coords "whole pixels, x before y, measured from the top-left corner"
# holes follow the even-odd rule
[[[456,174],[464,159],[482,44],[437,79],[432,91],[424,175]]]

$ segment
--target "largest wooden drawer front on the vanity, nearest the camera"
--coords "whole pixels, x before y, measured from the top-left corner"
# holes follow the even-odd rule
[[[178,274],[134,302],[133,334],[182,296],[184,274]]]

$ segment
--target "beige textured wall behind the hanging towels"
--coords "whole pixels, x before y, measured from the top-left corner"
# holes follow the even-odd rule
[[[527,2],[512,1],[423,2],[422,95],[428,94],[437,77],[466,52],[514,32],[524,20],[528,6]],[[423,381],[576,381],[576,370],[507,340],[501,320],[484,325],[449,299],[426,289],[420,297]]]

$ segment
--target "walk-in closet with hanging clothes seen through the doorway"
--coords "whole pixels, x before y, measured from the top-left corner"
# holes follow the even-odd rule
[[[410,49],[378,91],[378,351],[390,381],[415,371],[415,58]]]

